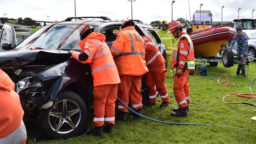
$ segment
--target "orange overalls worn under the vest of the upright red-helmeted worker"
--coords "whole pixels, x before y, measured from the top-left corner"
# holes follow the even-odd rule
[[[183,35],[186,33],[183,33]],[[173,59],[172,59],[172,68],[178,67],[177,71],[180,70],[179,68],[184,68],[186,60],[190,57],[194,58],[193,51],[189,52],[189,42],[186,37],[182,37],[178,42],[178,54],[177,59],[174,58],[174,51],[173,51]],[[178,66],[177,66],[178,65]],[[188,84],[188,76],[189,70],[186,69],[183,72],[183,75],[174,76],[173,81],[173,92],[178,103],[180,109],[183,109],[187,106],[187,102],[190,101],[190,93],[189,93],[189,84]]]

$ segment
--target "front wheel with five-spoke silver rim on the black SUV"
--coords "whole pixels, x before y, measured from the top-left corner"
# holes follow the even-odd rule
[[[63,105],[66,105],[65,109]],[[87,106],[83,99],[78,94],[65,90],[58,95],[58,102],[53,107],[42,110],[39,124],[49,138],[69,138],[83,130],[87,117]],[[61,127],[58,129],[58,126]]]

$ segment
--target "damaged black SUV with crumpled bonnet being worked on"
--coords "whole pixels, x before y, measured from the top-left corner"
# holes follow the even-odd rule
[[[24,109],[24,121],[36,122],[50,138],[78,135],[85,127],[93,105],[93,80],[89,64],[70,58],[78,50],[79,30],[83,24],[106,36],[111,46],[123,20],[107,17],[74,17],[47,25],[16,46],[15,30],[6,23],[0,33],[0,68],[15,83]],[[165,46],[152,26],[135,20],[140,35],[152,38],[165,56]],[[4,33],[4,31],[6,33]],[[145,80],[141,88],[147,96]],[[145,101],[145,100],[144,100]]]

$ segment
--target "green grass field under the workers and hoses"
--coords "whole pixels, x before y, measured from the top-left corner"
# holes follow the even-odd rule
[[[197,63],[198,64],[198,63]],[[171,102],[168,107],[160,108],[160,97],[154,107],[143,107],[142,113],[145,116],[162,120],[166,122],[181,123],[201,123],[214,124],[216,126],[181,126],[169,125],[152,122],[143,118],[128,119],[127,122],[117,121],[114,127],[114,133],[104,134],[102,137],[83,135],[65,140],[65,144],[111,144],[111,143],[190,143],[190,144],[255,144],[256,131],[234,129],[219,126],[243,127],[246,129],[256,129],[256,121],[250,120],[256,116],[255,107],[242,104],[227,105],[222,102],[223,96],[231,92],[250,93],[250,83],[256,78],[256,62],[250,63],[249,77],[242,78],[236,76],[237,65],[231,68],[224,68],[222,63],[217,67],[207,64],[207,74],[216,78],[226,75],[229,82],[236,85],[223,87],[217,84],[217,80],[208,76],[189,76],[189,85],[191,92],[191,104],[189,105],[189,115],[184,118],[171,117],[170,114],[174,107],[177,107],[173,95],[173,79],[167,78],[165,83],[169,90]],[[210,81],[209,81],[210,80]],[[213,81],[214,83],[212,83]],[[253,91],[256,92],[256,84],[253,85]],[[242,101],[256,104],[255,100],[244,98],[227,98],[228,102]],[[92,127],[88,122],[89,127]],[[35,132],[33,126],[27,127],[28,144],[32,133]],[[61,140],[48,140],[44,143],[60,142]]]

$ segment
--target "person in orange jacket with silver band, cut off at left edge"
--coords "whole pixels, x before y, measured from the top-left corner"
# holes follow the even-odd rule
[[[25,144],[26,127],[22,121],[24,111],[14,83],[0,69],[0,144]]]

